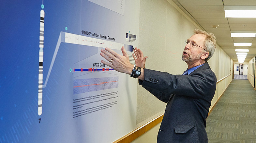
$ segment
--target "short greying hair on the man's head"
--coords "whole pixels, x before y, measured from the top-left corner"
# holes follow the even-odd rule
[[[214,54],[216,48],[216,37],[213,35],[213,33],[199,29],[194,30],[194,34],[203,34],[206,36],[203,44],[204,47],[206,47],[206,50],[209,52],[209,56],[206,59],[204,59],[204,61],[207,62]]]

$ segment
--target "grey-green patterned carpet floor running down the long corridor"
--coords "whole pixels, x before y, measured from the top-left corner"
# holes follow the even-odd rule
[[[206,119],[209,143],[256,143],[256,91],[233,79]]]

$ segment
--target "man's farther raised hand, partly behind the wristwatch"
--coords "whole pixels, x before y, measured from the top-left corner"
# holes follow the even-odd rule
[[[133,49],[133,52],[135,55],[132,54],[132,56],[135,60],[136,66],[145,68],[147,56],[143,57],[143,53],[142,53],[141,49],[137,49],[137,47],[135,48],[135,50]]]

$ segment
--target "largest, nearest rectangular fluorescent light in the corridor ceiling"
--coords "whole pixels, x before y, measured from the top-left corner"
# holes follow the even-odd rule
[[[256,18],[256,10],[225,10],[225,18]]]

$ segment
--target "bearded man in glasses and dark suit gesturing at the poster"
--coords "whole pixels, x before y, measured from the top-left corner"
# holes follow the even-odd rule
[[[164,117],[158,132],[158,143],[207,143],[205,131],[211,100],[217,78],[207,60],[216,48],[215,36],[195,30],[187,41],[182,60],[188,65],[184,75],[172,75],[144,68],[145,60],[140,49],[133,55],[136,66],[129,63],[124,47],[123,56],[109,48],[101,50],[106,61],[103,64],[113,69],[138,77],[139,84],[159,100],[166,102]],[[140,67],[142,68],[140,68]]]

